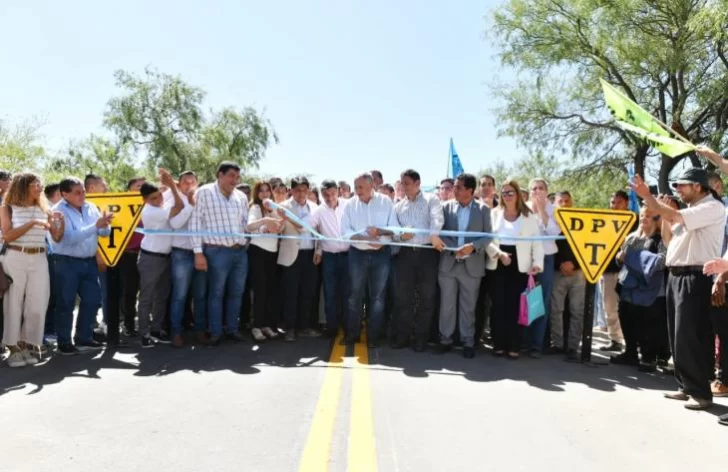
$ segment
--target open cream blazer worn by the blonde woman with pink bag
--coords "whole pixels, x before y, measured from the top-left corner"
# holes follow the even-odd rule
[[[503,209],[498,207],[490,211],[490,218],[493,222],[493,232],[496,228],[500,228],[503,220]],[[538,225],[538,217],[531,213],[530,215],[521,217],[521,229],[519,236],[541,236],[541,229]],[[518,271],[528,273],[533,266],[543,269],[543,244],[541,241],[505,241],[508,245],[516,246],[516,256],[518,257]],[[513,244],[515,242],[515,244]],[[485,267],[488,270],[498,268],[498,254],[500,254],[500,241],[493,239],[485,248],[487,254]]]

